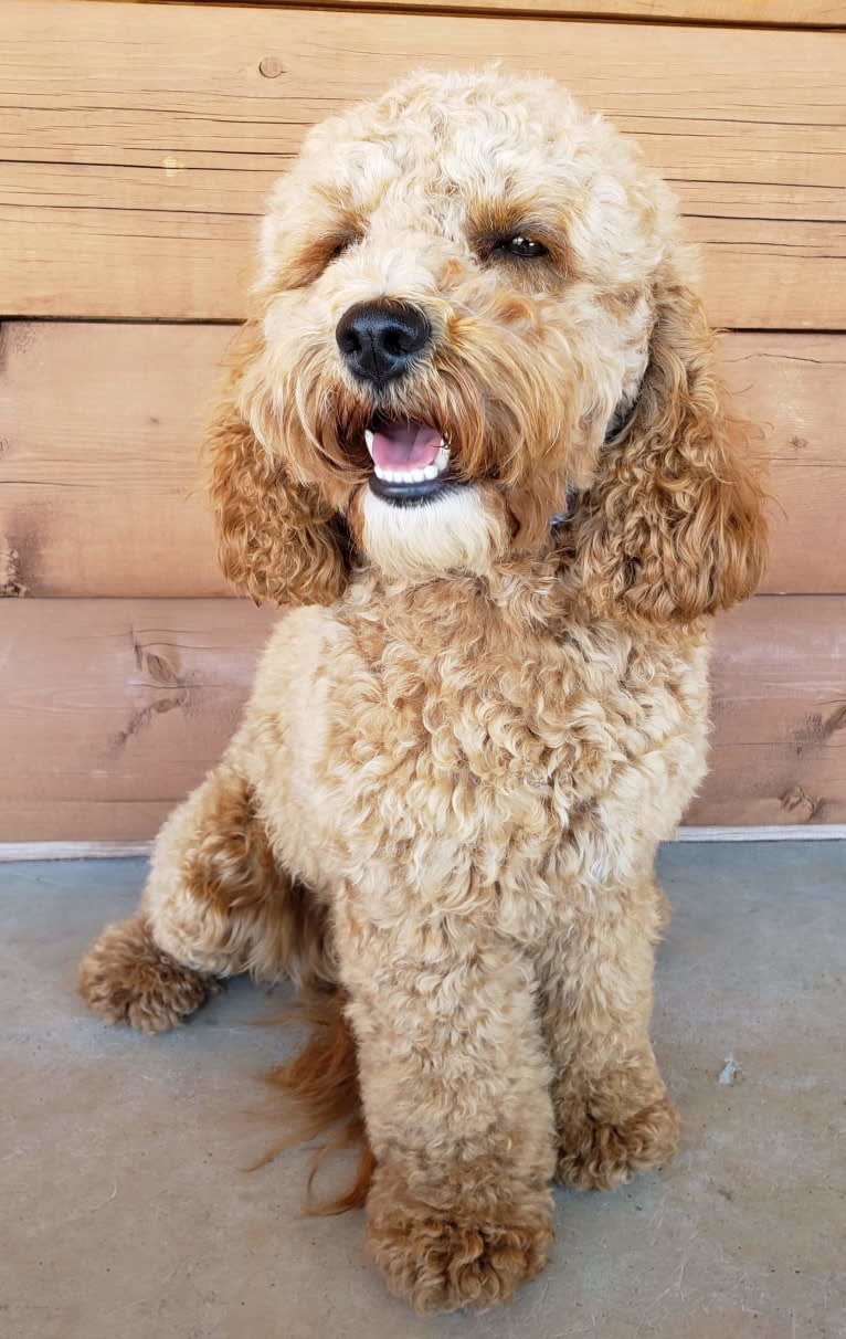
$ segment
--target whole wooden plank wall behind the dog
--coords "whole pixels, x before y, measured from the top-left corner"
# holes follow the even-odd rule
[[[543,70],[677,190],[774,553],[719,620],[692,823],[846,822],[846,0],[5,0],[0,841],[143,838],[220,753],[273,615],[194,489],[261,201],[331,107]]]

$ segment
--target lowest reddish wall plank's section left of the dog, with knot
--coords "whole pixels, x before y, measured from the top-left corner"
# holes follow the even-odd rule
[[[5,601],[0,840],[150,837],[232,735],[274,621],[236,600]]]

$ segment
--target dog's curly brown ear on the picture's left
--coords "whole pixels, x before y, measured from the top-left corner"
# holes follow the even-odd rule
[[[264,400],[256,388],[262,336],[248,323],[203,443],[206,486],[224,576],[257,603],[331,604],[348,580],[343,521],[316,485],[260,441]]]

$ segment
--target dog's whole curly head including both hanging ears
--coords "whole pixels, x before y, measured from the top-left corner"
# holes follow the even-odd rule
[[[759,498],[685,266],[663,183],[549,80],[418,75],[317,126],[210,434],[225,573],[324,603],[357,558],[558,549],[598,607],[739,599]]]

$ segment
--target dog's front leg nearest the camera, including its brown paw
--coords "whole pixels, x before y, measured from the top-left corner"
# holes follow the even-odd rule
[[[339,935],[367,1130],[369,1251],[419,1311],[490,1307],[545,1265],[554,1122],[531,975],[450,923]],[[460,945],[460,947],[459,947]]]

